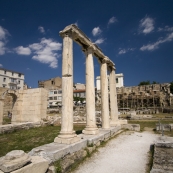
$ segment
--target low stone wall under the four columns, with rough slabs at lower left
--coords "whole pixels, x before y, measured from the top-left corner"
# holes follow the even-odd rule
[[[28,154],[13,150],[0,158],[0,173],[56,173],[56,170],[65,173],[121,131],[120,126],[99,129],[97,135],[80,134],[79,142],[69,145],[53,142],[33,148]]]

